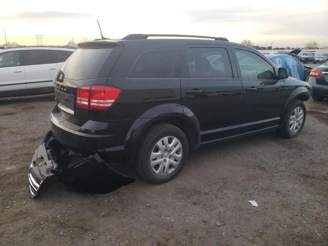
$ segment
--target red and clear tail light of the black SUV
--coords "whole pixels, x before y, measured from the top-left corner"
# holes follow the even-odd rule
[[[83,86],[77,88],[76,106],[89,109],[109,109],[120,89],[110,86]]]

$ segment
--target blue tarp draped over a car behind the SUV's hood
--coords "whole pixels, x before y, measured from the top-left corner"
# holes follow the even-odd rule
[[[288,69],[289,76],[303,80],[304,65],[291,55],[268,55],[268,58],[278,67]]]

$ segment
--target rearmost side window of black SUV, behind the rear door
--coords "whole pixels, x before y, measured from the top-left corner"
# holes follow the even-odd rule
[[[182,49],[149,50],[142,53],[129,78],[179,78]]]

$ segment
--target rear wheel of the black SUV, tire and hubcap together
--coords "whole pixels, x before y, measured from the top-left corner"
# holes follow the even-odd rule
[[[141,142],[136,167],[139,175],[153,183],[167,182],[182,170],[189,154],[188,139],[181,129],[158,124]]]

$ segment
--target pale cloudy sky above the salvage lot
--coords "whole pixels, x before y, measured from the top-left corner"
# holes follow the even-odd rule
[[[227,37],[255,45],[302,47],[310,40],[328,46],[328,0],[233,1],[26,1],[1,5],[0,44],[65,45],[130,33],[169,33]]]

